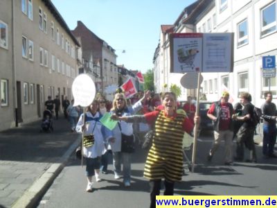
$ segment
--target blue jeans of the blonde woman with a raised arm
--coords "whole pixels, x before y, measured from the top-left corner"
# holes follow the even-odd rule
[[[121,162],[123,164],[123,181],[131,180],[131,156],[132,153],[113,152],[114,157],[114,173],[118,175],[121,172]]]

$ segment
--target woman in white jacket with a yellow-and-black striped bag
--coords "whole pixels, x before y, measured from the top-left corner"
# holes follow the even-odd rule
[[[87,112],[81,114],[76,125],[76,131],[84,134],[83,155],[86,160],[86,191],[88,192],[92,191],[93,175],[95,175],[96,182],[101,180],[99,176],[101,156],[107,151],[105,148],[107,140],[114,142],[111,132],[100,123],[101,116],[99,102],[95,100],[87,107]]]

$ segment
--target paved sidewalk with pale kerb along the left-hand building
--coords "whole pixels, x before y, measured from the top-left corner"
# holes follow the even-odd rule
[[[33,207],[79,144],[63,116],[54,132],[39,132],[40,124],[0,132],[0,208]]]

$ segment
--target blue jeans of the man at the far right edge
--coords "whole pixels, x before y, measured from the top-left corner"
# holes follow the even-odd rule
[[[276,143],[277,128],[274,124],[263,125],[264,138],[262,139],[262,154],[263,155],[273,155],[274,145]]]

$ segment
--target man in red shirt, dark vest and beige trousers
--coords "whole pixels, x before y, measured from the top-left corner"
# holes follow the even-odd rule
[[[232,144],[233,144],[233,105],[228,103],[229,93],[223,92],[220,101],[213,103],[207,112],[207,116],[213,121],[214,141],[211,150],[208,153],[208,161],[210,162],[215,151],[220,146],[220,141],[225,140],[225,158],[224,164],[231,165],[232,160]]]

